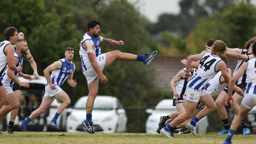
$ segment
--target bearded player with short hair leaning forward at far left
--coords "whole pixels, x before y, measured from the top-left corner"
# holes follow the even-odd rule
[[[18,40],[17,41],[17,51],[14,54],[13,63],[16,66],[22,66],[22,59],[23,55],[26,54],[26,51],[28,50],[28,44],[26,40]],[[10,68],[6,68],[4,73],[2,74],[0,80],[6,89],[7,93],[7,102],[5,103],[4,107],[0,109],[0,122],[6,117],[6,115],[16,107],[18,107],[18,101],[13,90],[13,83],[16,82],[20,86],[28,88],[29,84],[26,82],[21,82],[18,78],[18,76],[22,76],[23,78],[32,80],[31,76],[28,74],[23,74],[22,72],[14,72]]]

